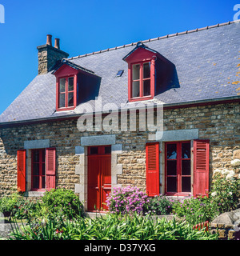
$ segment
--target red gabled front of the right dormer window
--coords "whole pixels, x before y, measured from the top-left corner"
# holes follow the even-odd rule
[[[151,50],[142,42],[123,60],[128,63],[128,100],[142,101],[155,96],[155,61],[158,52]]]

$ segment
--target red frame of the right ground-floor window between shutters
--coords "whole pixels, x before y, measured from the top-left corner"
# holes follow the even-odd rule
[[[192,172],[191,172],[191,158],[182,158],[182,144],[190,143],[190,141],[184,142],[166,142],[165,143],[165,194],[172,195],[172,196],[188,196],[191,194],[191,179],[192,179]],[[167,146],[170,144],[176,144],[177,147],[177,158],[167,159]],[[190,150],[190,157],[191,157],[191,150]],[[182,161],[190,160],[190,174],[182,175]],[[176,175],[167,175],[167,161],[177,161],[176,166]],[[167,191],[167,178],[174,177],[176,178],[176,192]],[[182,192],[182,177],[190,178],[190,191],[189,192]]]

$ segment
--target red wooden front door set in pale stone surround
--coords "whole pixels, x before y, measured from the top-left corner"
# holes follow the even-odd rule
[[[94,146],[88,154],[88,210],[107,210],[106,194],[111,190],[111,155],[109,146]]]

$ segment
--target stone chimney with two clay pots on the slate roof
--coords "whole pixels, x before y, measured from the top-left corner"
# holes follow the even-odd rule
[[[67,58],[69,54],[60,50],[59,38],[55,38],[55,45],[52,46],[52,35],[46,35],[46,45],[38,46],[38,74],[46,74],[53,70],[56,62]]]

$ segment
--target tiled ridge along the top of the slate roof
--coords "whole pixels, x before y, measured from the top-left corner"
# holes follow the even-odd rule
[[[215,27],[218,27],[218,26],[226,26],[226,25],[230,25],[230,24],[238,23],[238,22],[240,22],[240,19],[238,19],[236,21],[232,21],[232,22],[218,23],[218,24],[213,25],[213,26],[205,26],[205,27],[202,27],[202,28],[199,28],[199,29],[197,28],[195,30],[186,30],[186,31],[183,31],[183,32],[180,32],[180,33],[177,32],[175,34],[166,34],[162,37],[150,38],[150,39],[147,39],[147,40],[143,40],[141,42],[142,43],[144,43],[144,42],[153,42],[153,41],[157,41],[157,40],[164,39],[164,38],[172,38],[174,36],[178,36],[178,35],[182,35],[182,34],[190,34],[190,33],[198,32],[198,31],[202,31],[202,30],[209,30],[209,29],[212,29],[212,28],[215,28]],[[113,48],[108,48],[106,50],[98,50],[98,51],[92,52],[90,54],[82,54],[82,55],[78,55],[78,56],[75,56],[75,57],[66,58],[66,60],[71,60],[71,59],[75,59],[75,58],[83,58],[83,57],[90,56],[90,55],[93,55],[93,54],[101,54],[101,53],[104,53],[104,52],[110,51],[110,50],[118,50],[120,48],[125,48],[125,47],[128,47],[128,46],[137,45],[137,43],[138,42],[132,42],[130,44],[123,45],[123,46],[116,46],[116,47],[113,47]]]

